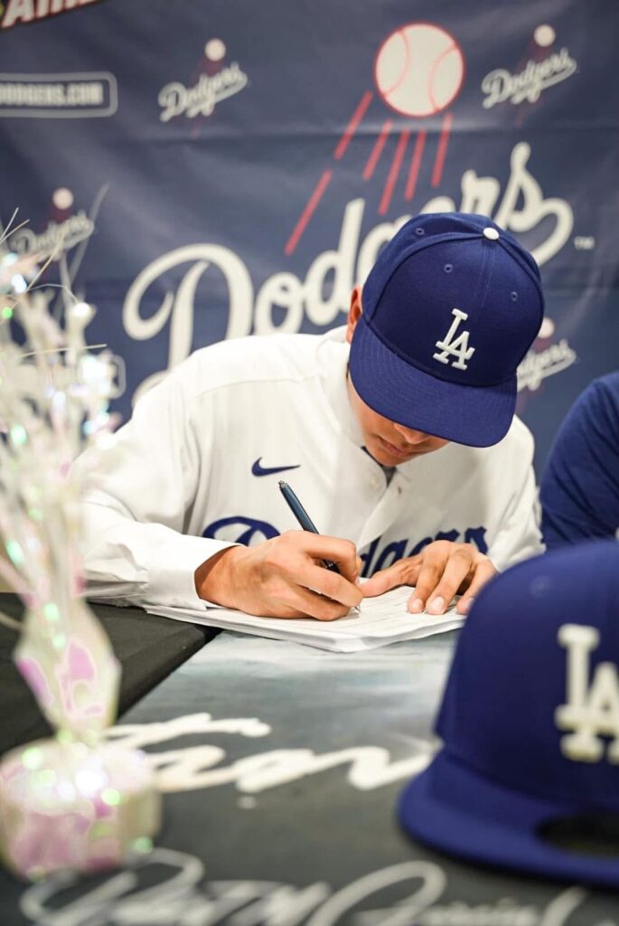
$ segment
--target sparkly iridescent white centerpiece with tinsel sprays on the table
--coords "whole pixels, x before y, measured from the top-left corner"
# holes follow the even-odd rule
[[[143,754],[103,739],[116,717],[120,669],[83,598],[88,468],[79,474],[72,462],[88,448],[96,465],[111,439],[114,368],[108,353],[85,343],[93,307],[63,286],[54,317],[36,285],[47,265],[12,254],[9,233],[10,223],[0,237],[0,575],[25,614],[0,620],[19,632],[15,662],[56,735],[0,762],[0,857],[36,879],[147,851],[160,796]]]

